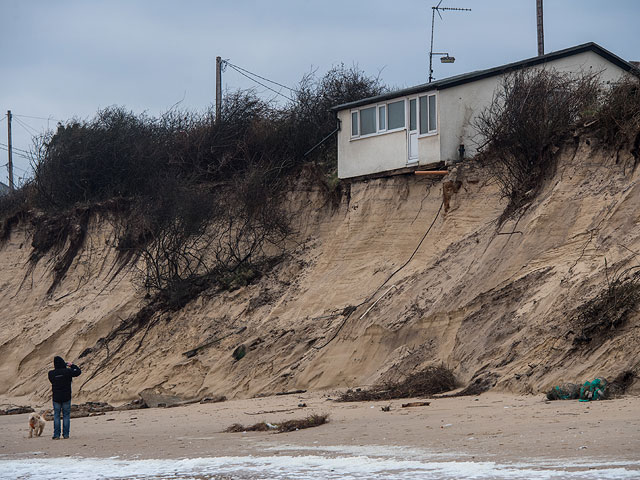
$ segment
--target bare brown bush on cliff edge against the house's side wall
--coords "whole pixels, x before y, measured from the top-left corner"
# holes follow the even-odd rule
[[[509,204],[501,220],[527,205],[554,173],[554,154],[598,104],[596,75],[520,70],[507,75],[475,120],[480,160]]]

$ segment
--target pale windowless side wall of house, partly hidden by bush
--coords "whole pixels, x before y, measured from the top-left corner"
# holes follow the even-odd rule
[[[600,78],[605,84],[618,80],[625,73],[620,67],[609,63],[594,52],[580,53],[533,68],[573,73],[601,72]],[[477,153],[481,139],[477,137],[473,124],[478,114],[491,103],[502,78],[498,75],[438,91],[441,160],[445,162],[457,160],[460,144],[465,146],[465,158],[470,158]]]

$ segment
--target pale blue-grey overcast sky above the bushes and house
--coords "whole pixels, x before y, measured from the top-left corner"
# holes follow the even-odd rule
[[[20,183],[31,171],[24,157],[33,136],[57,121],[89,119],[114,105],[152,116],[176,103],[206,110],[218,55],[291,87],[341,63],[391,87],[425,83],[437,2],[0,0],[0,182],[8,183],[7,110]],[[443,0],[441,7],[472,10],[436,16],[434,51],[456,58],[434,58],[436,79],[537,55],[536,0]],[[596,42],[640,60],[639,18],[639,0],[545,0],[545,52]],[[231,68],[223,88],[275,96]]]

